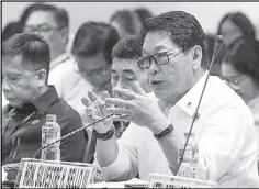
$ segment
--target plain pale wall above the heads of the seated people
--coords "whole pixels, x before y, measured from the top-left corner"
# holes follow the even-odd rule
[[[2,2],[2,27],[20,18],[32,2]],[[230,11],[241,11],[254,23],[259,36],[259,2],[49,2],[65,8],[70,16],[70,32],[76,33],[86,21],[108,22],[120,9],[148,8],[154,14],[172,10],[192,13],[206,33],[216,33],[219,20]],[[259,37],[258,37],[259,38]]]

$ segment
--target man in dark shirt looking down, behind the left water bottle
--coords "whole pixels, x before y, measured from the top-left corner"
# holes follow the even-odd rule
[[[15,34],[2,45],[2,88],[10,102],[2,111],[2,165],[33,157],[46,114],[56,114],[61,136],[82,126],[79,114],[47,85],[49,62],[49,47],[38,35]],[[86,145],[80,132],[61,141],[60,159],[82,162]]]

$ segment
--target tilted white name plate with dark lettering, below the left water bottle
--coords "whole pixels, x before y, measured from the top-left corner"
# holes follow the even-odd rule
[[[18,188],[86,188],[93,169],[83,163],[22,159],[15,182]]]

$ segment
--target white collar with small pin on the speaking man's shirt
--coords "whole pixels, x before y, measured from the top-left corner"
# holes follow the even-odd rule
[[[190,116],[193,116],[195,113],[207,74],[209,73],[206,71],[176,104]]]

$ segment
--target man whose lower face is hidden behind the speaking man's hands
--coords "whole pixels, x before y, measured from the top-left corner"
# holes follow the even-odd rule
[[[120,40],[112,51],[112,88],[131,89],[131,82],[138,81],[145,92],[151,92],[147,75],[143,68],[136,64],[136,59],[142,55],[143,41],[137,35],[130,35]],[[87,103],[87,98],[82,99]],[[88,120],[91,120],[89,114]],[[121,137],[127,127],[127,122],[114,122],[115,135]]]

